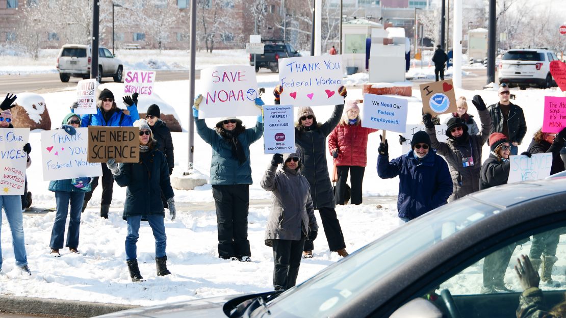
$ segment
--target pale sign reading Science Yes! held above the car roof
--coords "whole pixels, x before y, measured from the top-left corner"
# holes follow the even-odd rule
[[[527,157],[524,155],[509,156],[511,166],[507,183],[544,179],[550,175],[552,153],[536,153]]]

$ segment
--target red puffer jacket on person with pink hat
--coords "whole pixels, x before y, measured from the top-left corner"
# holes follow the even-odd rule
[[[328,150],[332,156],[338,148],[337,166],[360,166],[367,164],[367,135],[378,131],[361,125],[339,123],[328,135]]]

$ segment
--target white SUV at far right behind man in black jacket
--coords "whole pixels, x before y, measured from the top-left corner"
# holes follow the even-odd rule
[[[499,83],[518,86],[550,88],[554,85],[550,75],[550,62],[559,59],[547,49],[511,49],[499,63]]]

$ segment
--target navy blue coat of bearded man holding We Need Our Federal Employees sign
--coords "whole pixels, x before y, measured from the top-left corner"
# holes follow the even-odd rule
[[[378,175],[381,179],[399,176],[399,217],[412,220],[446,204],[452,194],[452,179],[446,161],[434,150],[422,160],[414,157],[413,150],[388,160],[389,156],[378,155]]]

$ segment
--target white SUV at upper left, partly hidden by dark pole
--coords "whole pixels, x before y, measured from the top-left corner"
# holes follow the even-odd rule
[[[88,79],[91,77],[91,46],[80,44],[63,45],[57,57],[57,70],[62,82],[67,82],[74,76]],[[115,58],[109,49],[98,48],[98,83],[107,76],[114,81],[122,81],[124,67],[122,61]]]

